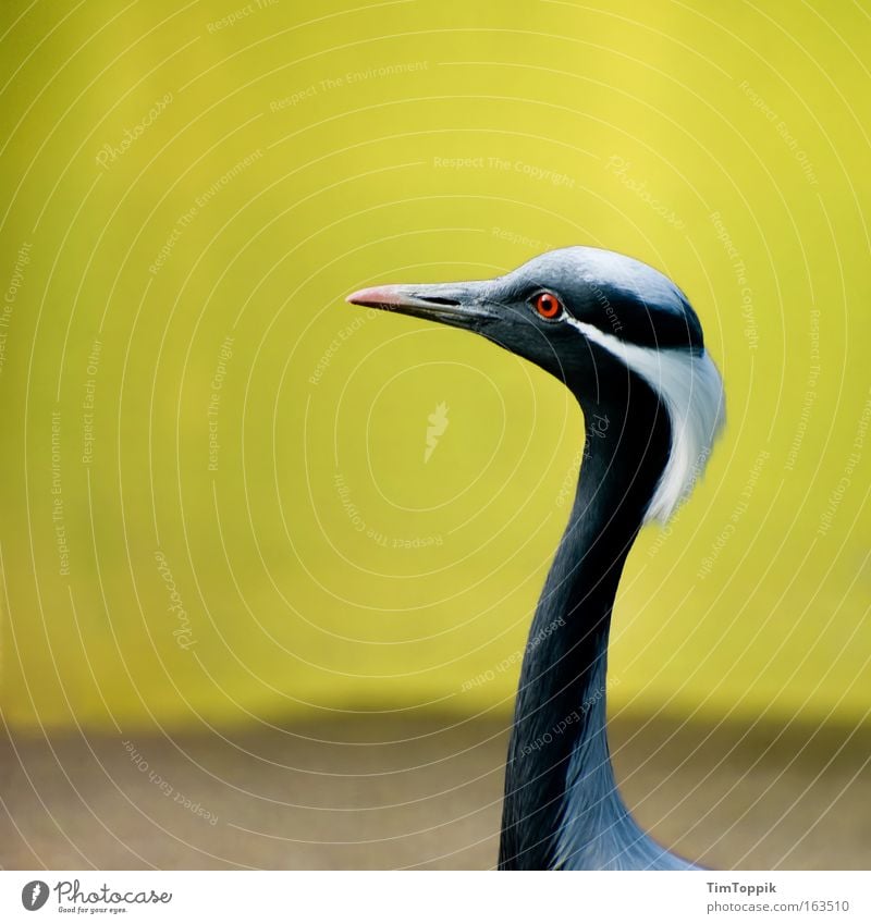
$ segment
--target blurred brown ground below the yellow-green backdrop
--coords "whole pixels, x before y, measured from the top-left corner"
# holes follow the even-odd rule
[[[627,802],[687,857],[871,866],[869,728],[623,722],[612,741]],[[487,868],[505,743],[504,725],[447,719],[4,739],[0,865]]]

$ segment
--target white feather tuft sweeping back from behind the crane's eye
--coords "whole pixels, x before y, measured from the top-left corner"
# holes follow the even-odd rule
[[[592,324],[566,320],[640,375],[668,411],[672,451],[645,515],[646,522],[665,523],[704,471],[725,422],[723,381],[716,366],[707,352],[637,346]]]

